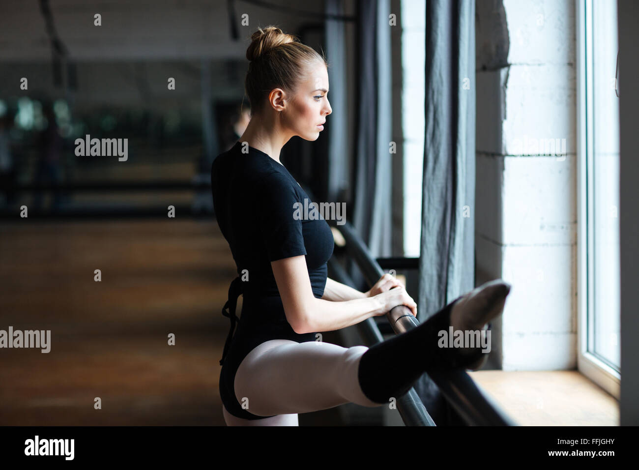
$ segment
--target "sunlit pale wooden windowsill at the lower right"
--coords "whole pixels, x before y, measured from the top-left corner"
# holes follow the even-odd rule
[[[619,426],[619,402],[574,370],[468,372],[520,426]]]

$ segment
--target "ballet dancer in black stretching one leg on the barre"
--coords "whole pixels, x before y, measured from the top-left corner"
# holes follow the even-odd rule
[[[215,214],[238,278],[222,313],[231,331],[222,354],[220,396],[227,425],[298,425],[298,413],[347,402],[389,403],[431,368],[478,368],[481,350],[440,349],[438,331],[479,330],[502,312],[510,286],[491,281],[419,327],[371,348],[317,341],[366,318],[417,305],[386,274],[368,292],[327,278],[332,232],[324,219],[300,220],[309,198],[279,161],[292,136],[314,141],[331,107],[327,63],[277,27],[259,29],[247,49],[245,91],[252,119],[212,166]],[[243,294],[233,336],[235,304]],[[228,308],[228,312],[226,309]]]

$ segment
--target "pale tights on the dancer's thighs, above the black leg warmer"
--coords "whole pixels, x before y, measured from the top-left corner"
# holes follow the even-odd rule
[[[298,426],[298,413],[319,411],[344,403],[379,407],[371,402],[357,378],[366,346],[344,348],[322,341],[296,343],[270,340],[243,359],[235,375],[240,405],[264,419],[236,418],[222,405],[228,426]]]

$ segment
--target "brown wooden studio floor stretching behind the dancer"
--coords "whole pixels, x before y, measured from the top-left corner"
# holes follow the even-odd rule
[[[0,425],[224,425],[235,275],[214,220],[1,224],[0,329],[50,330],[51,345],[0,350]],[[337,409],[300,415],[322,424]]]

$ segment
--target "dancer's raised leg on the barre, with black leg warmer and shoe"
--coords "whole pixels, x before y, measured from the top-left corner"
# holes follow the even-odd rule
[[[510,285],[503,281],[486,283],[450,302],[419,327],[371,348],[344,348],[321,341],[266,341],[240,364],[234,383],[236,398],[250,413],[265,417],[319,411],[348,402],[385,405],[390,398],[404,395],[424,372],[481,364],[481,349],[443,349],[438,345],[440,332],[451,324],[481,329],[502,313],[509,290]]]

